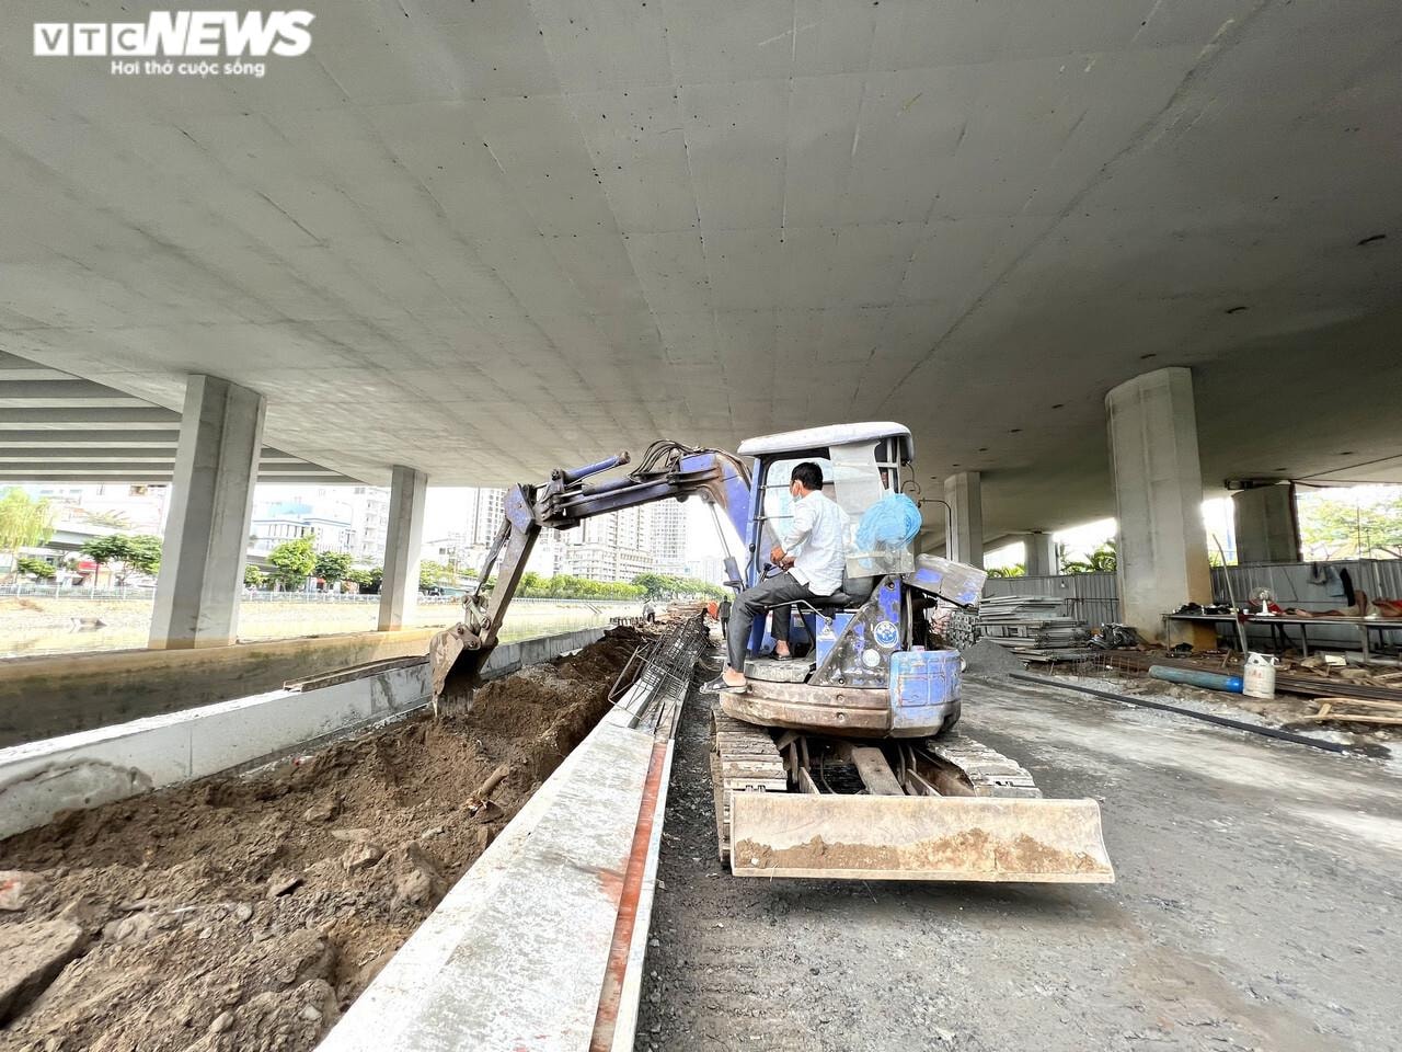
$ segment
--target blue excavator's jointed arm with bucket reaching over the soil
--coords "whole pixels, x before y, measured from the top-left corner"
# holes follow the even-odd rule
[[[478,682],[541,530],[568,530],[596,515],[698,495],[725,512],[744,536],[750,471],[739,457],[659,439],[648,446],[635,470],[589,481],[629,463],[631,457],[622,452],[583,467],[555,468],[543,487],[522,484],[508,491],[506,513],[478,572],[477,588],[463,602],[463,620],[429,642],[435,704],[454,680]],[[739,585],[735,560],[728,555],[725,565],[728,578]]]

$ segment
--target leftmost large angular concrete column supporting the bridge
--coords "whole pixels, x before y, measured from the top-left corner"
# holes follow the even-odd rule
[[[191,376],[151,614],[153,649],[227,647],[238,634],[264,397]]]

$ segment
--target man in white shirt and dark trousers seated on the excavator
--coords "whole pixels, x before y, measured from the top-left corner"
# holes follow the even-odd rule
[[[798,464],[789,474],[789,495],[794,498],[794,518],[788,532],[770,551],[770,562],[784,572],[764,578],[754,588],[736,596],[726,624],[726,666],[707,690],[743,694],[744,651],[750,640],[750,626],[765,610],[799,599],[820,602],[843,586],[847,555],[843,546],[843,512],[823,492],[823,468],[810,460]],[[792,658],[788,645],[789,612],[774,617],[774,656]]]

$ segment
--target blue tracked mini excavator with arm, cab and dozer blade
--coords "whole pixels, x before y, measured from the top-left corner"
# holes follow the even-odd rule
[[[765,558],[791,513],[789,473],[815,461],[847,516],[847,576],[822,603],[770,613],[789,619],[796,659],[764,656],[771,633],[757,617],[749,689],[716,700],[711,773],[730,871],[1113,881],[1095,800],[1043,797],[1021,764],[956,729],[962,661],[935,621],[951,606],[976,606],[986,574],[862,529],[872,508],[908,487],[913,460],[899,424],[838,424],[749,439],[736,453],[658,440],[624,474],[625,452],[512,487],[463,621],[430,642],[435,701],[477,682],[541,530],[698,497],[722,540],[723,519],[743,544],[742,558],[726,558],[729,584],[742,589],[777,572]]]

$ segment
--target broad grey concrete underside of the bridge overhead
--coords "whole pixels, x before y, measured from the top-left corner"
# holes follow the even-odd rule
[[[224,376],[349,477],[894,418],[990,536],[1056,527],[1165,365],[1209,485],[1399,476],[1385,0],[374,0],[261,80],[31,55],[129,14],[0,14],[4,349]]]

